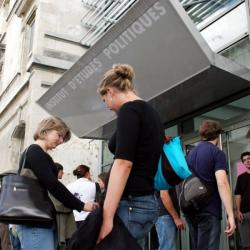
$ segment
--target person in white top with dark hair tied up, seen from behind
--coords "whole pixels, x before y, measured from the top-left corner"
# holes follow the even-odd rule
[[[77,180],[68,184],[69,191],[82,202],[94,202],[96,197],[96,185],[90,180],[90,168],[86,165],[79,165],[73,175]],[[86,219],[89,212],[74,210],[74,217],[77,227]]]

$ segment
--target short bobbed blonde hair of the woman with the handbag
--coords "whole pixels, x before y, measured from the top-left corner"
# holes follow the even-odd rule
[[[63,141],[67,142],[71,137],[71,132],[65,122],[58,117],[49,117],[43,119],[36,129],[36,132],[33,136],[34,140],[41,139],[44,140],[46,132],[56,130],[63,135]]]

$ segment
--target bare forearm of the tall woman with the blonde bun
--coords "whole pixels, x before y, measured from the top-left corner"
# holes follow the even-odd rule
[[[122,193],[126,186],[132,163],[116,159],[112,166],[106,198],[103,206],[103,219],[113,219]]]

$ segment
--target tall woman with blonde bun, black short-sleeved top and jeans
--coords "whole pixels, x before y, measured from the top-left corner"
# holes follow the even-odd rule
[[[116,131],[109,141],[114,162],[98,242],[111,232],[116,212],[138,240],[147,235],[159,214],[154,176],[164,130],[158,113],[135,93],[133,76],[130,65],[113,65],[98,88],[107,107],[117,113]]]

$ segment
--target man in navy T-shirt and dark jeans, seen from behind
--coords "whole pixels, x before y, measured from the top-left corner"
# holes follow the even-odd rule
[[[217,145],[222,132],[220,123],[205,120],[199,133],[202,142],[192,149],[187,161],[190,169],[205,183],[213,187],[214,193],[208,205],[199,212],[185,214],[192,240],[192,250],[218,250],[221,234],[221,201],[227,212],[227,236],[235,231],[232,194],[227,179],[226,156]]]

